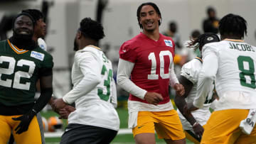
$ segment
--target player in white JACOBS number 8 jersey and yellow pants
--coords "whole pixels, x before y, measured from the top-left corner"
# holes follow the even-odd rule
[[[203,107],[215,79],[219,100],[204,126],[201,143],[255,143],[256,127],[247,135],[239,126],[250,115],[250,109],[256,109],[256,48],[242,40],[247,34],[247,22],[241,16],[224,16],[219,30],[222,41],[203,47],[198,91],[188,109]]]

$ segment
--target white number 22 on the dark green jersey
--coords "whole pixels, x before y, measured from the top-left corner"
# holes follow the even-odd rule
[[[3,62],[9,62],[9,66],[7,68],[0,67],[0,85],[4,87],[11,87],[11,83],[14,80],[13,88],[29,90],[31,86],[31,82],[26,82],[25,84],[21,84],[20,81],[21,81],[21,77],[28,78],[28,79],[32,77],[32,74],[36,67],[35,62],[30,60],[18,60],[17,66],[23,67],[23,65],[27,65],[29,67],[28,72],[22,72],[22,71],[15,72],[14,79],[6,79],[6,80],[1,79],[1,75],[13,74],[16,60],[14,59],[14,57],[0,56],[0,64],[3,64]]]

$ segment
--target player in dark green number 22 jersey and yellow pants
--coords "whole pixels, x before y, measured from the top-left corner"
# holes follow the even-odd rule
[[[6,143],[13,131],[16,143],[42,143],[36,113],[46,106],[52,93],[53,57],[36,45],[35,20],[28,13],[14,19],[14,34],[0,42],[0,142]],[[35,101],[36,82],[41,96]]]

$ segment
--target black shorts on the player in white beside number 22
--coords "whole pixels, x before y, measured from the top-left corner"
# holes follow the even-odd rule
[[[61,136],[60,144],[107,144],[117,135],[117,131],[97,126],[70,123]]]

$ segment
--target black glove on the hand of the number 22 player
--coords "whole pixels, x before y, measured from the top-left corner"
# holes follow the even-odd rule
[[[18,118],[13,118],[14,121],[21,121],[21,123],[19,123],[19,125],[15,128],[16,134],[21,134],[24,131],[27,131],[28,126],[31,123],[31,120],[35,115],[36,115],[36,111],[31,110],[28,113],[23,114]]]

